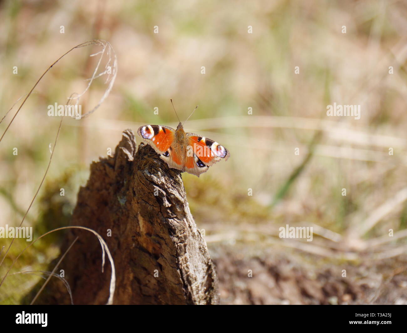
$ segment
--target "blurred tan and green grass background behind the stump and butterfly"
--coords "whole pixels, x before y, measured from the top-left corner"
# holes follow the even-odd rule
[[[335,265],[342,257],[358,263],[375,251],[379,257],[405,256],[405,2],[1,1],[0,22],[1,118],[73,46],[105,39],[118,57],[116,83],[101,107],[83,120],[64,119],[46,182],[24,222],[34,226],[35,235],[69,223],[89,164],[108,148],[114,151],[125,128],[175,127],[173,98],[181,120],[199,104],[186,131],[231,152],[227,163],[200,178],[182,175],[191,212],[210,248],[223,242],[270,248],[272,241],[287,251],[278,228],[290,224],[314,225],[325,235],[314,235],[315,248],[300,241],[288,245],[293,254],[317,255],[315,265],[326,260]],[[0,226],[20,224],[44,175],[59,124],[59,118],[48,117],[48,105],[65,104],[72,92],[84,89],[96,60],[89,55],[97,51],[80,48],[61,59],[0,143]],[[101,98],[103,82],[95,81],[81,100],[83,112]],[[0,124],[1,133],[20,102]],[[360,120],[327,117],[326,106],[334,102],[360,104]],[[300,155],[294,155],[295,148]],[[386,213],[374,211],[378,207]],[[372,220],[371,228],[358,231]],[[390,228],[400,237],[377,245]],[[43,270],[58,255],[62,236],[35,244],[12,272]],[[0,248],[8,244],[0,239]],[[0,276],[25,246],[16,240]],[[353,256],[332,257],[327,249]],[[36,279],[9,276],[0,302],[19,303]]]

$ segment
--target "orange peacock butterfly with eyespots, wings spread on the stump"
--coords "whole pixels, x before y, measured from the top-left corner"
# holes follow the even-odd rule
[[[194,133],[185,133],[181,122],[177,129],[161,125],[141,126],[137,134],[154,148],[168,167],[195,174],[198,177],[217,161],[221,159],[226,161],[230,157],[229,151],[216,141]]]

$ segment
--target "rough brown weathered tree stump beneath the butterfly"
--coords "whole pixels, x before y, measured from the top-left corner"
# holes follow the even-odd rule
[[[150,146],[137,150],[131,130],[123,132],[114,157],[93,162],[90,170],[72,225],[91,228],[107,242],[116,267],[114,304],[217,304],[214,264],[190,213],[181,173]],[[111,269],[107,261],[101,272],[97,238],[72,229],[61,252],[77,235],[57,272],[65,270],[74,304],[105,304]],[[53,278],[36,303],[69,304],[70,298]]]

